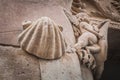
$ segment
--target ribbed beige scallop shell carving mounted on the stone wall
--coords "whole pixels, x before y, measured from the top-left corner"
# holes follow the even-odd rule
[[[57,59],[65,53],[65,41],[59,26],[48,17],[42,17],[19,35],[20,47],[43,59]]]

